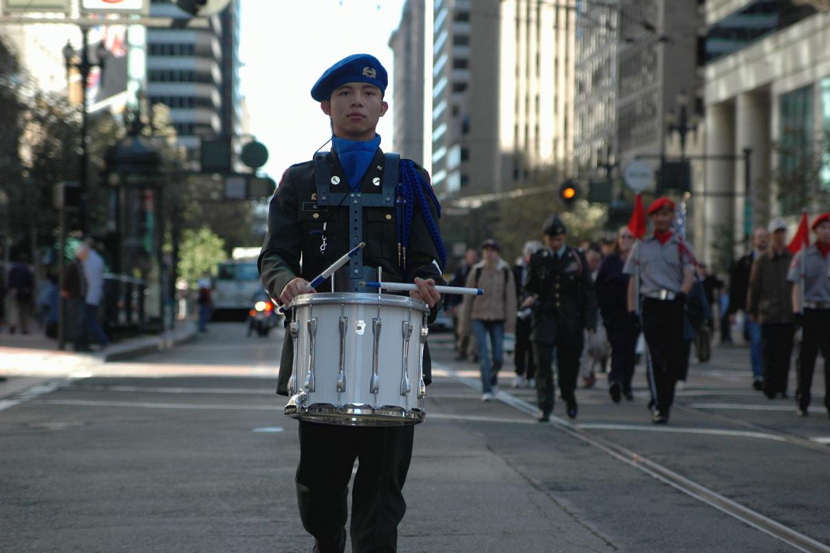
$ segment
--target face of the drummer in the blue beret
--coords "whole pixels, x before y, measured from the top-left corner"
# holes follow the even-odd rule
[[[365,82],[347,82],[331,93],[320,109],[331,117],[334,136],[349,140],[374,139],[378,120],[389,105],[383,101],[380,89]]]

